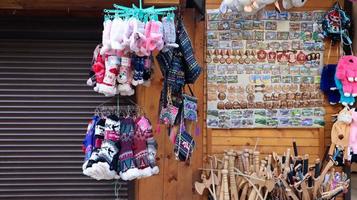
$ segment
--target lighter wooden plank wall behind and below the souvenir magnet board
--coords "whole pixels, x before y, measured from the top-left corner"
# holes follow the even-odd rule
[[[221,0],[207,0],[208,9],[218,8]],[[326,10],[336,1],[309,0],[302,8],[293,9],[294,11],[303,10]],[[326,43],[326,49],[330,45]],[[325,51],[325,63],[336,63],[338,60],[337,47],[331,49],[330,59],[327,59],[327,50]],[[207,149],[208,153],[220,154],[224,149],[241,149],[254,146],[259,138],[258,149],[263,154],[272,151],[282,153],[287,147],[292,146],[293,139],[300,146],[300,154],[309,154],[312,159],[321,157],[325,151],[325,145],[330,143],[330,131],[332,127],[331,114],[338,112],[339,108],[332,107],[326,101],[326,126],[323,129],[234,129],[218,130],[207,129]],[[312,160],[311,159],[311,160]]]

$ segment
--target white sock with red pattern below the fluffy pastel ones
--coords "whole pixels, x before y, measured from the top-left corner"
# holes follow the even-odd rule
[[[131,81],[133,78],[131,71],[131,59],[127,56],[123,56],[121,61],[122,62],[117,77],[117,81],[119,83],[118,90],[122,96],[131,96],[135,92],[131,87]]]

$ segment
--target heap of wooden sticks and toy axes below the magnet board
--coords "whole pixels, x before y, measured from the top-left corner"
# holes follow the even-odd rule
[[[282,156],[272,153],[261,159],[259,151],[244,149],[208,158],[210,167],[200,169],[195,189],[201,195],[208,190],[213,200],[334,199],[349,187],[346,174],[335,172],[334,157],[323,169],[320,159],[309,165],[309,155],[299,156],[295,142],[293,155],[287,149]]]

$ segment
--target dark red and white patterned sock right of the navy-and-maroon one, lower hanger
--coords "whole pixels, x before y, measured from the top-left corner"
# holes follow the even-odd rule
[[[135,135],[134,135],[134,157],[135,165],[139,169],[140,178],[151,176],[151,167],[148,161],[148,151],[146,145],[146,129],[142,126],[142,120],[146,120],[143,117],[139,117],[135,123]],[[145,122],[144,122],[145,123]],[[138,177],[139,178],[139,177]]]

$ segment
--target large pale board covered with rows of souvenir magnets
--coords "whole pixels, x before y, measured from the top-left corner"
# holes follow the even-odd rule
[[[323,126],[324,14],[207,10],[208,127]]]

